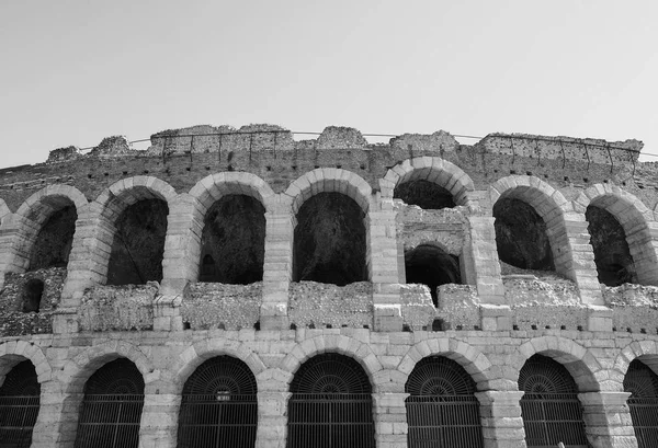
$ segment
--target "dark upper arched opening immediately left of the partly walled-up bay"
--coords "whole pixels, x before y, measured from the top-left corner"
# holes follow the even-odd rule
[[[367,280],[365,215],[349,196],[318,193],[297,214],[293,282],[344,286]]]

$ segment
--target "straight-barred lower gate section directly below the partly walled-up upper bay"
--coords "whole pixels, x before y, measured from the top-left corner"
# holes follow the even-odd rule
[[[480,448],[479,402],[473,395],[411,395],[406,400],[409,448]]]

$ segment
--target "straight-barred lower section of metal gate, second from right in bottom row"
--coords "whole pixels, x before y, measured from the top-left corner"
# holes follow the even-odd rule
[[[521,415],[529,447],[588,447],[582,406],[576,393],[525,393]]]

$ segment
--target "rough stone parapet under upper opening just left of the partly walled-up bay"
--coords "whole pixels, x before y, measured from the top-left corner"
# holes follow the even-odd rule
[[[373,285],[370,282],[345,286],[291,283],[288,317],[291,324],[297,328],[370,328],[373,324]]]

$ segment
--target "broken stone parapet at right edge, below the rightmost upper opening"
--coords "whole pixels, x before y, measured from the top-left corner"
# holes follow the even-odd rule
[[[612,309],[614,330],[651,334],[658,331],[658,287],[633,284],[605,286],[603,300]]]

